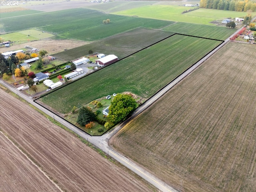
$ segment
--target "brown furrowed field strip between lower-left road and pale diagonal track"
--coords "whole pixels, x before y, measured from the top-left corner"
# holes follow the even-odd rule
[[[62,190],[152,190],[137,177],[128,174],[83,144],[76,136],[51,123],[28,104],[10,96],[2,89],[0,95],[2,131],[29,154]],[[26,172],[30,174],[30,170]]]

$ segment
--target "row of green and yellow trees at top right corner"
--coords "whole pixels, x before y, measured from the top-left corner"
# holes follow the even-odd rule
[[[200,7],[229,11],[256,11],[256,2],[250,0],[200,0]]]

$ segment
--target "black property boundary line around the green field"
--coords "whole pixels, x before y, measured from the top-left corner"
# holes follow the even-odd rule
[[[145,47],[145,48],[143,48],[143,49],[141,49],[141,50],[138,50],[138,51],[136,51],[136,52],[134,52],[134,53],[132,53],[132,54],[130,54],[130,55],[128,55],[128,56],[126,56],[126,57],[124,57],[124,58],[118,60],[118,61],[121,61],[121,60],[123,60],[123,59],[125,59],[125,58],[128,58],[128,57],[132,56],[133,54],[136,54],[136,53],[138,53],[138,52],[140,52],[140,51],[142,51],[142,50],[144,50],[144,49],[147,49],[147,48],[149,48],[150,46],[153,46],[154,44],[157,44],[157,43],[159,43],[159,42],[161,42],[161,41],[163,41],[163,40],[166,40],[167,38],[170,38],[170,37],[172,37],[172,36],[174,36],[174,35],[190,36],[190,37],[196,37],[196,38],[201,38],[201,39],[208,39],[208,40],[215,40],[215,41],[220,41],[220,42],[222,42],[222,43],[220,43],[218,46],[214,47],[212,50],[210,50],[209,52],[207,52],[207,54],[204,55],[202,58],[204,58],[205,56],[207,56],[208,54],[210,54],[214,49],[218,48],[219,46],[222,46],[222,44],[224,43],[224,40],[218,40],[218,39],[212,39],[212,38],[204,38],[204,37],[198,37],[198,36],[192,36],[192,35],[174,33],[174,34],[172,34],[172,35],[170,35],[170,36],[168,36],[168,37],[166,37],[166,38],[164,38],[164,39],[162,39],[162,40],[160,40],[160,41],[158,41],[158,42],[156,42],[156,43],[153,43],[153,44],[151,44],[151,45],[149,45],[149,46],[147,46],[147,47]],[[184,70],[181,74],[179,74],[178,76],[176,76],[176,78],[174,78],[174,79],[171,80],[169,83],[167,83],[165,86],[163,86],[162,88],[160,88],[155,94],[153,94],[152,96],[150,96],[147,100],[149,100],[150,98],[152,98],[153,96],[155,96],[158,92],[160,92],[161,90],[163,90],[168,84],[174,82],[175,79],[177,79],[177,78],[178,78],[179,76],[181,76],[184,72],[186,72],[187,70],[189,70],[189,69],[190,69],[192,66],[194,66],[197,62],[199,62],[202,58],[200,58],[199,60],[197,60],[197,61],[196,61],[194,64],[192,64],[189,68],[187,68],[187,69]],[[116,62],[118,62],[118,61],[116,61]],[[112,63],[112,64],[115,64],[116,62],[114,62],[114,63]],[[112,65],[112,64],[110,64],[110,65]],[[110,65],[108,65],[108,66],[110,66]],[[106,67],[108,67],[108,66],[106,66]],[[104,68],[106,68],[106,67],[104,67]],[[102,70],[102,69],[104,69],[104,68],[100,68],[99,70]],[[97,72],[97,71],[99,71],[99,70],[96,70],[96,71],[94,71],[94,72],[91,72],[90,74],[93,74],[93,73],[95,73],[95,72]],[[74,82],[76,82],[76,81],[78,81],[78,80],[80,80],[80,79],[82,79],[82,78],[84,78],[84,77],[86,77],[86,76],[88,76],[88,75],[90,75],[90,74],[87,74],[87,75],[85,75],[85,76],[82,76],[81,78],[78,78],[78,79],[76,79],[76,80],[70,82],[70,83],[67,83],[67,84],[65,84],[64,86],[61,86],[61,87],[59,87],[59,88],[53,90],[52,92],[57,91],[57,90],[59,90],[60,88],[63,88],[63,87],[65,87],[65,86],[69,85],[69,84],[72,84],[72,83],[74,83]],[[37,98],[37,99],[35,99],[35,100],[33,100],[33,101],[34,101],[36,104],[40,105],[41,107],[43,107],[43,108],[49,110],[48,108],[46,108],[45,106],[43,106],[43,105],[41,105],[39,102],[37,102],[36,100],[38,100],[38,99],[40,99],[40,98],[42,98],[42,97],[44,97],[44,96],[46,96],[46,95],[48,95],[48,94],[51,94],[52,92],[47,93],[47,94],[43,94],[43,95],[41,95],[39,98]],[[145,102],[144,102],[144,103],[145,103]],[[144,103],[143,103],[141,106],[143,106]],[[145,108],[145,109],[146,109],[146,108]],[[54,115],[58,116],[59,118],[62,118],[61,116],[59,116],[59,115],[56,114],[55,112],[53,112],[53,111],[51,111],[51,110],[49,110],[49,111],[52,112]],[[128,116],[126,119],[128,119],[129,117],[130,117],[130,116]],[[69,122],[68,120],[66,120],[66,119],[64,119],[64,118],[62,118],[62,119],[65,120],[66,122],[72,124],[72,123]],[[107,130],[106,132],[102,133],[101,135],[91,135],[91,134],[85,132],[84,130],[82,130],[81,128],[79,128],[78,126],[76,126],[76,125],[74,125],[74,124],[72,124],[72,125],[75,126],[76,128],[78,128],[79,130],[81,130],[82,132],[84,132],[84,133],[90,135],[90,136],[102,136],[102,135],[105,134],[107,131],[109,131],[109,130]]]

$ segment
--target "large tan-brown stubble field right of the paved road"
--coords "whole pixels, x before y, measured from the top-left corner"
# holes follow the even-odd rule
[[[182,192],[255,192],[255,53],[229,42],[110,144]]]

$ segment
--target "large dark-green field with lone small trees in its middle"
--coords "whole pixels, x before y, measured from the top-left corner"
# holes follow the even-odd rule
[[[108,18],[111,22],[103,24],[102,21]],[[1,19],[2,28],[6,32],[38,28],[56,34],[56,38],[85,41],[99,40],[137,27],[158,29],[172,23],[164,20],[105,14],[84,8],[25,15],[15,20]]]

